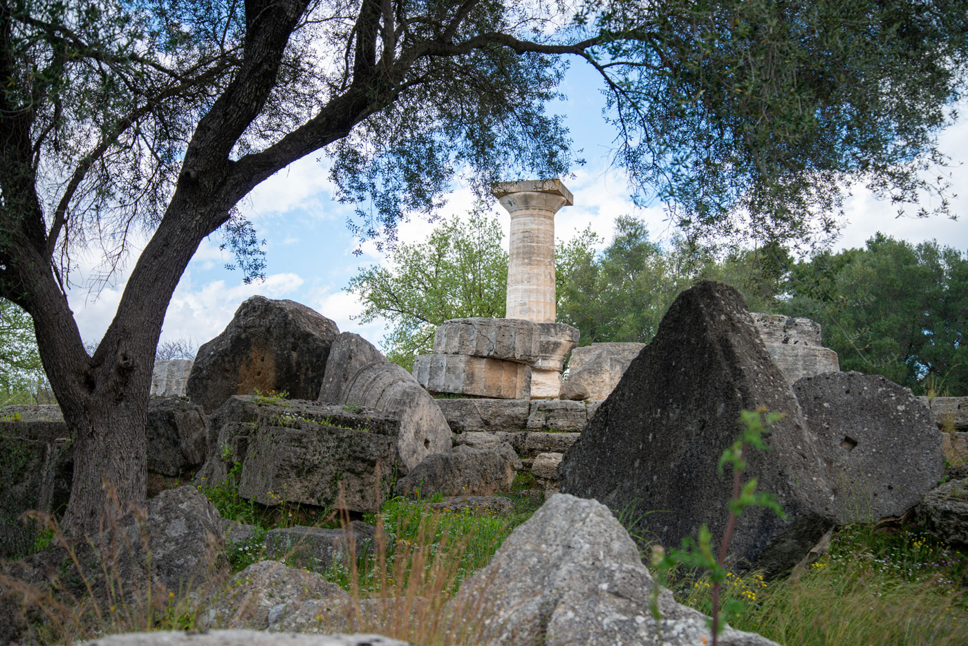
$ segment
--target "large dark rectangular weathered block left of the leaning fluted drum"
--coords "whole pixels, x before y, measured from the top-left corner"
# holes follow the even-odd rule
[[[393,436],[292,420],[259,426],[248,438],[239,495],[260,505],[284,502],[376,512],[390,492]]]

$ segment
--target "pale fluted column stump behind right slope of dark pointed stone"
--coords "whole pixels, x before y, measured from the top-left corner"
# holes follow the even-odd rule
[[[821,345],[820,323],[780,314],[750,312],[749,316],[767,354],[790,385],[803,377],[839,372],[837,354]]]

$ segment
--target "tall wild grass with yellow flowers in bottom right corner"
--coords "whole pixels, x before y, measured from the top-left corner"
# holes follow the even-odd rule
[[[842,528],[830,551],[792,575],[768,581],[730,572],[725,619],[734,628],[803,646],[940,645],[968,634],[968,557],[915,532]],[[707,579],[682,576],[677,599],[711,610]]]

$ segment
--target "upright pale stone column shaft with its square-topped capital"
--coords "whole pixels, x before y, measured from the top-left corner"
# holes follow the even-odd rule
[[[555,323],[555,214],[574,203],[559,179],[499,182],[491,192],[511,214],[508,319]]]

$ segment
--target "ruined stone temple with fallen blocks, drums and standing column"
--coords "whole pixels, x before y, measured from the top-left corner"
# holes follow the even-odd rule
[[[719,456],[740,434],[740,412],[759,406],[785,417],[769,430],[769,450],[747,455],[746,475],[786,517],[745,510],[731,567],[779,574],[836,524],[914,508],[939,538],[968,541],[968,466],[932,492],[946,459],[968,463],[968,398],[919,400],[884,378],[841,373],[817,323],[749,313],[739,292],[709,282],[680,294],[650,344],[576,349],[579,330],[555,320],[554,217],[571,194],[559,180],[504,183],[494,193],[511,214],[507,318],[442,323],[433,354],[417,357],[412,374],[312,309],[261,296],[244,302],[196,360],[156,363],[146,426],[151,494],[195,478],[153,497],[149,545],[166,556],[152,574],[158,582],[180,585],[199,575],[205,550],[222,554],[223,541],[255,536],[254,527],[219,518],[198,491],[230,476],[258,505],[339,506],[354,518],[414,492],[441,496],[427,503],[439,509],[506,513],[511,502],[500,494],[530,477],[527,486],[548,502],[460,593],[504,593],[491,600],[489,643],[520,643],[515,634],[549,644],[614,643],[616,635],[650,642],[652,590],[662,630],[678,635],[665,632],[666,643],[699,643],[705,618],[656,588],[642,545],[615,515],[667,547],[702,524],[718,543],[731,494]],[[441,393],[457,396],[434,398]],[[4,542],[19,513],[64,504],[73,466],[56,406],[3,414],[0,556],[20,548]],[[167,540],[167,525],[187,529]],[[375,528],[349,525],[348,533],[276,529],[262,546],[333,565],[372,546]],[[171,565],[181,552],[184,571]],[[228,590],[243,580],[256,582],[252,608],[237,611],[227,593],[210,600],[201,627],[304,630],[348,602],[318,574],[281,564],[256,563]],[[728,631],[722,643],[771,642]]]

